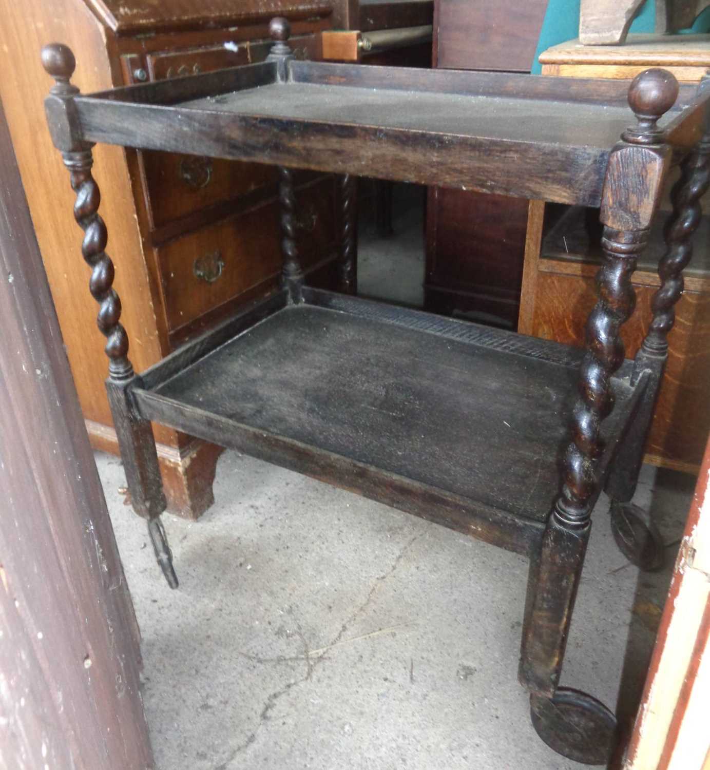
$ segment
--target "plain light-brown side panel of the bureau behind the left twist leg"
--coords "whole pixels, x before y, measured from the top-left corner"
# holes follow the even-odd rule
[[[52,79],[39,64],[39,51],[42,45],[56,39],[81,51],[74,82],[85,91],[105,89],[117,83],[112,79],[109,55],[99,25],[92,22],[89,11],[72,0],[57,0],[52,2],[51,8],[49,5],[27,5],[19,14],[15,4],[0,0],[3,18],[0,25],[0,60],[3,63],[0,94],[52,297],[69,346],[69,362],[82,410],[90,420],[109,424],[109,404],[104,389],[106,369],[103,364],[97,364],[103,358],[104,341],[95,329],[95,306],[88,288],[90,271],[80,252],[82,233],[72,217],[74,193],[62,158],[52,146],[45,128],[42,102]],[[17,62],[23,62],[22,66]],[[37,162],[38,158],[42,158],[42,162]],[[146,269],[122,150],[97,147],[95,176],[99,186],[103,184],[111,191],[102,202],[101,213],[109,230],[109,251],[112,244],[120,245],[118,252],[113,250],[115,286],[120,295],[130,297],[123,307],[122,321],[131,340],[133,363],[137,370],[141,370],[158,360],[167,349],[156,333],[155,321],[150,318],[152,307],[160,306],[159,287],[149,280]],[[77,301],[79,294],[83,301]],[[150,309],[150,316],[146,309]],[[162,434],[162,438],[169,439],[171,434],[172,431]]]

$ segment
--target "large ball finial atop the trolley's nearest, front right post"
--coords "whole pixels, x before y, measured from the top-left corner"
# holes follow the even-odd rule
[[[638,125],[628,129],[623,139],[632,144],[654,144],[662,132],[656,122],[678,99],[678,81],[667,69],[645,69],[631,81],[628,105],[634,111]]]

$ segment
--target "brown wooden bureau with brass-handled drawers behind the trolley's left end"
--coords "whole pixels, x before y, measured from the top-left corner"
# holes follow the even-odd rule
[[[37,52],[57,39],[74,45],[82,52],[76,82],[88,91],[243,65],[268,52],[268,19],[276,6],[265,11],[264,5],[259,0],[0,0],[0,94],[95,448],[118,452],[105,372],[95,366],[102,343],[93,333],[92,311],[78,298],[89,275],[72,256],[79,233],[62,216],[72,190],[60,176],[49,134],[37,129],[44,122],[47,88],[46,75],[35,66]],[[317,59],[317,33],[332,25],[330,0],[283,0],[278,8],[293,21],[296,55]],[[99,178],[112,185],[102,213],[111,232],[109,248],[122,254],[116,285],[132,294],[124,322],[139,369],[276,285],[280,244],[273,169],[109,147],[96,155]],[[40,157],[45,161],[39,163]],[[309,243],[306,262],[322,266],[323,286],[335,286],[327,263],[340,240],[333,229],[340,191],[332,176],[305,174],[298,194],[304,207],[296,229]],[[162,426],[156,427],[156,439],[170,510],[199,516],[213,500],[219,448]]]

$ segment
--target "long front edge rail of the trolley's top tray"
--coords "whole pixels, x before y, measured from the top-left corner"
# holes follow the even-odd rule
[[[370,68],[362,68],[370,69]],[[599,206],[609,150],[77,98],[82,139]],[[176,130],[175,127],[179,130]],[[444,142],[438,142],[442,138]],[[367,152],[363,152],[367,148]],[[519,169],[527,169],[525,174]],[[550,169],[556,169],[551,174]]]

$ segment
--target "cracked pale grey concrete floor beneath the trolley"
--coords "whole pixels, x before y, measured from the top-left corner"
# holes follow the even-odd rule
[[[164,516],[170,591],[119,460],[96,460],[142,629],[158,770],[581,767],[538,739],[516,681],[524,558],[226,452],[210,511]],[[637,500],[669,563],[691,494],[687,477],[645,467]],[[623,717],[670,566],[628,566],[607,511],[602,499],[562,679]]]

